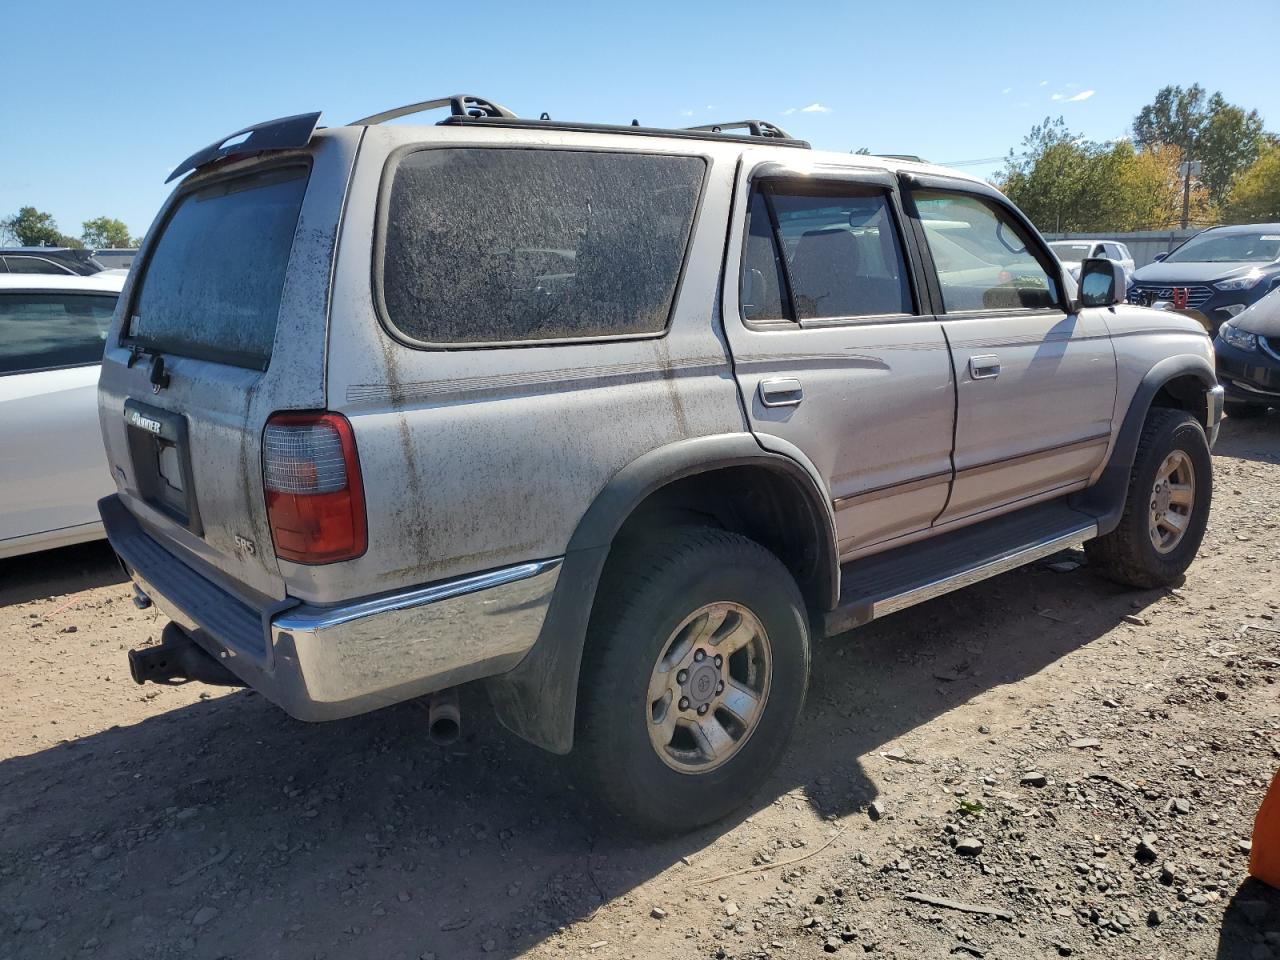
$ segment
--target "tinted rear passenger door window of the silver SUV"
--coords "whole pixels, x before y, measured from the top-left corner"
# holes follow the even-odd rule
[[[748,320],[913,314],[886,195],[767,183],[751,197],[741,301]]]

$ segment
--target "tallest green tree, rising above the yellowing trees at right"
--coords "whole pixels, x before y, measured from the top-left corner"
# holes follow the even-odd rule
[[[1133,133],[1142,147],[1174,146],[1184,157],[1199,160],[1199,179],[1215,205],[1226,202],[1235,175],[1258,159],[1266,143],[1257,110],[1245,113],[1221,93],[1206,96],[1198,83],[1187,90],[1164,87],[1138,113]]]

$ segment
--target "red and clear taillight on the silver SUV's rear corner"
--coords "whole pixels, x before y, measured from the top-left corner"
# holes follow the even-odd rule
[[[275,556],[334,563],[365,552],[365,488],[340,413],[276,413],[262,435],[262,489]]]

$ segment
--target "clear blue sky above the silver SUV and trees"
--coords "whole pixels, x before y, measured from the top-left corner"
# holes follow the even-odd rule
[[[1119,137],[1166,83],[1221,90],[1280,129],[1280,1],[1212,10],[1184,0],[13,3],[0,215],[31,204],[64,233],[99,215],[141,233],[169,170],[239,127],[307,110],[337,124],[454,92],[556,119],[759,116],[817,147],[940,163],[1004,156],[1046,115]]]

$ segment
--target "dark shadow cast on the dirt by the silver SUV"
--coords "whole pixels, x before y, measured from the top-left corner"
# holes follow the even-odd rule
[[[733,818],[657,842],[596,813],[572,756],[503,732],[479,687],[448,750],[421,704],[305,724],[241,691],[8,759],[0,955],[518,956],[664,873],[680,899],[750,864],[751,841],[701,851],[771,804],[858,813],[877,795],[860,756],[1157,596],[1033,567],[822,644],[780,771]],[[983,733],[938,750],[965,737]]]

